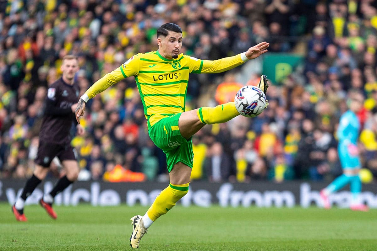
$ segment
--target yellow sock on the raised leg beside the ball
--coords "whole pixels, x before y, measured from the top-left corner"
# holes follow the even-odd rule
[[[225,103],[216,107],[201,107],[196,112],[198,114],[200,122],[203,124],[211,125],[227,122],[239,113],[234,106],[234,102]]]

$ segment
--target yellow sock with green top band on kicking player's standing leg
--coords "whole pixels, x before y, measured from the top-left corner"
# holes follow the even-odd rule
[[[183,185],[173,185],[172,183],[169,186],[162,190],[162,192],[156,197],[153,204],[147,211],[149,219],[155,221],[162,214],[166,214],[167,211],[172,209],[175,206],[175,203],[179,201],[187,192],[189,192],[189,184]]]

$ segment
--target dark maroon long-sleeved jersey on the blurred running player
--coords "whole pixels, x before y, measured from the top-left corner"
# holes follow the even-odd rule
[[[41,141],[59,145],[70,143],[69,131],[72,122],[76,122],[71,106],[77,103],[79,94],[80,88],[77,83],[69,85],[62,78],[50,85],[39,133]]]

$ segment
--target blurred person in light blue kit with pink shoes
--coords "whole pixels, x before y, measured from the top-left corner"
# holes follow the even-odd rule
[[[363,94],[356,91],[349,93],[347,100],[349,110],[340,117],[337,129],[337,137],[339,140],[338,153],[343,168],[343,174],[320,192],[323,206],[327,209],[331,207],[328,196],[349,183],[352,194],[350,208],[356,211],[368,211],[368,207],[362,204],[359,198],[362,184],[359,176],[361,163],[357,149],[360,120],[356,114],[362,110],[363,104]]]

